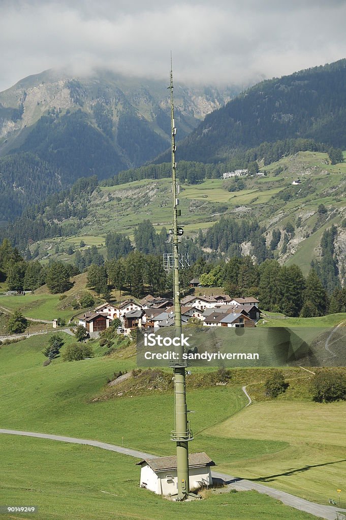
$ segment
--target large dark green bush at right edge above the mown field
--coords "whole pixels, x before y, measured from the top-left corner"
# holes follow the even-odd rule
[[[346,400],[346,375],[339,370],[319,370],[310,383],[314,401],[331,402]]]

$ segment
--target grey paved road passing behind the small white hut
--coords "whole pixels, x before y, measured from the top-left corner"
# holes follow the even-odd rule
[[[45,433],[21,432],[19,430],[5,430],[3,428],[0,428],[0,434],[1,433],[9,435],[24,435],[27,437],[39,437],[42,439],[60,440],[63,443],[87,444],[89,446],[95,446],[104,450],[116,451],[117,453],[129,455],[130,457],[135,457],[137,459],[151,459],[153,457],[156,457],[156,455],[145,453],[144,451],[137,451],[130,448],[124,448],[123,446],[115,446],[113,444],[108,443],[100,443],[98,440],[78,439],[74,437],[63,437],[61,435],[48,435]],[[290,495],[289,493],[285,493],[284,491],[280,491],[278,489],[262,486],[262,484],[251,482],[251,480],[232,477],[230,475],[226,475],[224,473],[219,473],[215,471],[212,472],[212,476],[213,478],[220,478],[224,480],[224,482],[226,482],[226,484],[228,484],[230,487],[235,488],[239,491],[250,491],[252,489],[255,489],[259,493],[264,493],[265,495],[275,498],[276,500],[280,500],[285,505],[289,505],[292,508],[299,509],[300,511],[305,511],[306,513],[310,513],[319,518],[325,518],[326,520],[335,520],[337,512],[346,512],[346,509],[339,509],[330,505],[322,505],[317,504],[315,502],[309,502],[308,500],[295,497],[294,495]]]

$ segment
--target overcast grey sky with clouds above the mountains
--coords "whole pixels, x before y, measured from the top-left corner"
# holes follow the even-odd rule
[[[346,0],[0,0],[0,90],[68,66],[246,85],[346,57]]]

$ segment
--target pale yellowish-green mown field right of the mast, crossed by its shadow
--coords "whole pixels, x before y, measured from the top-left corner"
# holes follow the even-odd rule
[[[261,402],[206,433],[222,439],[276,439],[289,448],[247,461],[221,464],[236,473],[308,500],[337,500],[346,472],[346,403]],[[346,500],[342,497],[342,507]]]

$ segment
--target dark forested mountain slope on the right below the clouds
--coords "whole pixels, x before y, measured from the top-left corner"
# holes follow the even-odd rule
[[[227,161],[239,149],[289,138],[346,148],[346,59],[263,81],[208,114],[180,160]],[[160,161],[166,161],[163,154]]]

